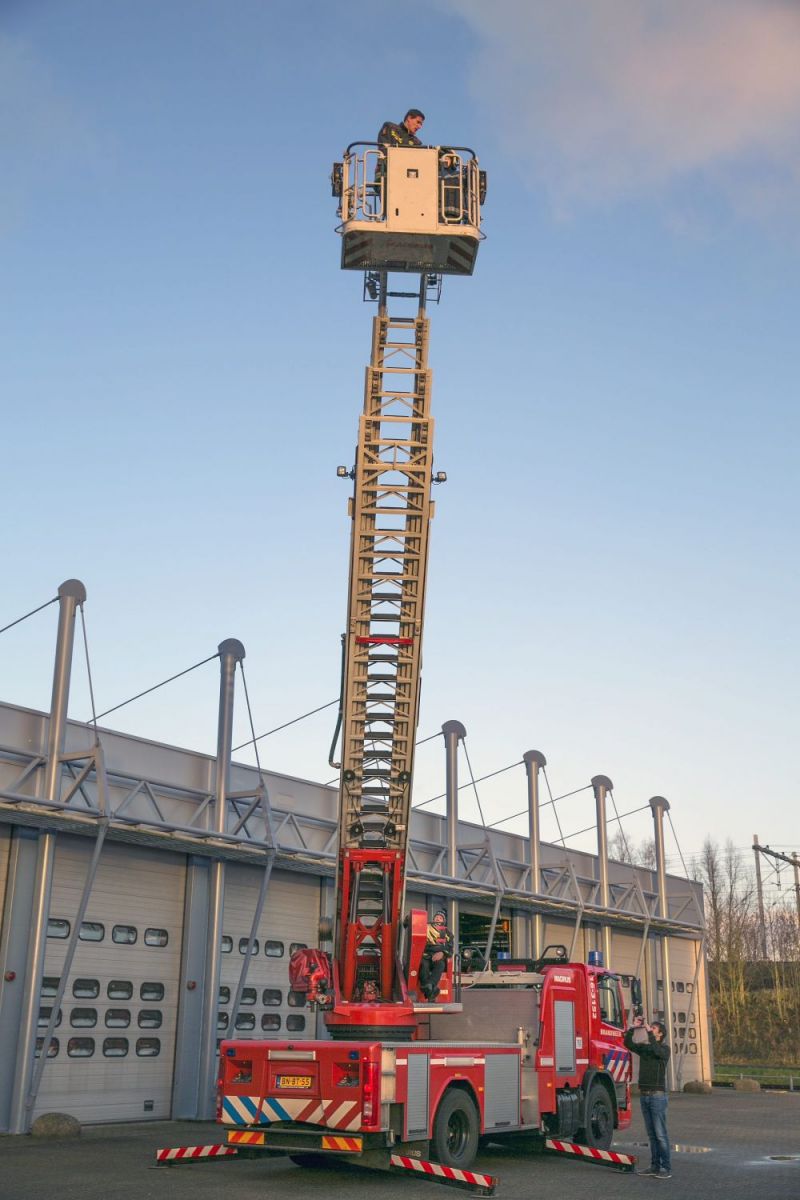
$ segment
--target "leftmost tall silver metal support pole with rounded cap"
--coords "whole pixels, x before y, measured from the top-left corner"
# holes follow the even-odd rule
[[[47,762],[44,764],[44,799],[58,804],[61,792],[61,756],[70,703],[70,674],[72,671],[72,647],[74,643],[76,612],[86,599],[86,589],[80,580],[65,580],[59,588],[59,630],[55,640],[53,667],[53,695],[50,721],[47,734]],[[55,834],[42,833],[38,840],[36,880],[30,916],[30,937],[25,964],[24,1001],[19,1037],[17,1040],[17,1075],[11,1100],[10,1133],[28,1133],[28,1096],[34,1076],[34,1051],[36,1026],[44,970],[44,946],[47,920],[50,911],[53,862],[55,859]]]

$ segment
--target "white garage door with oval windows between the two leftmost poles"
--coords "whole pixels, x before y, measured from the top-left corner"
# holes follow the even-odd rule
[[[91,851],[84,838],[61,835],[56,844],[42,1032]],[[184,883],[182,856],[103,847],[35,1115],[55,1110],[82,1122],[169,1117]]]

